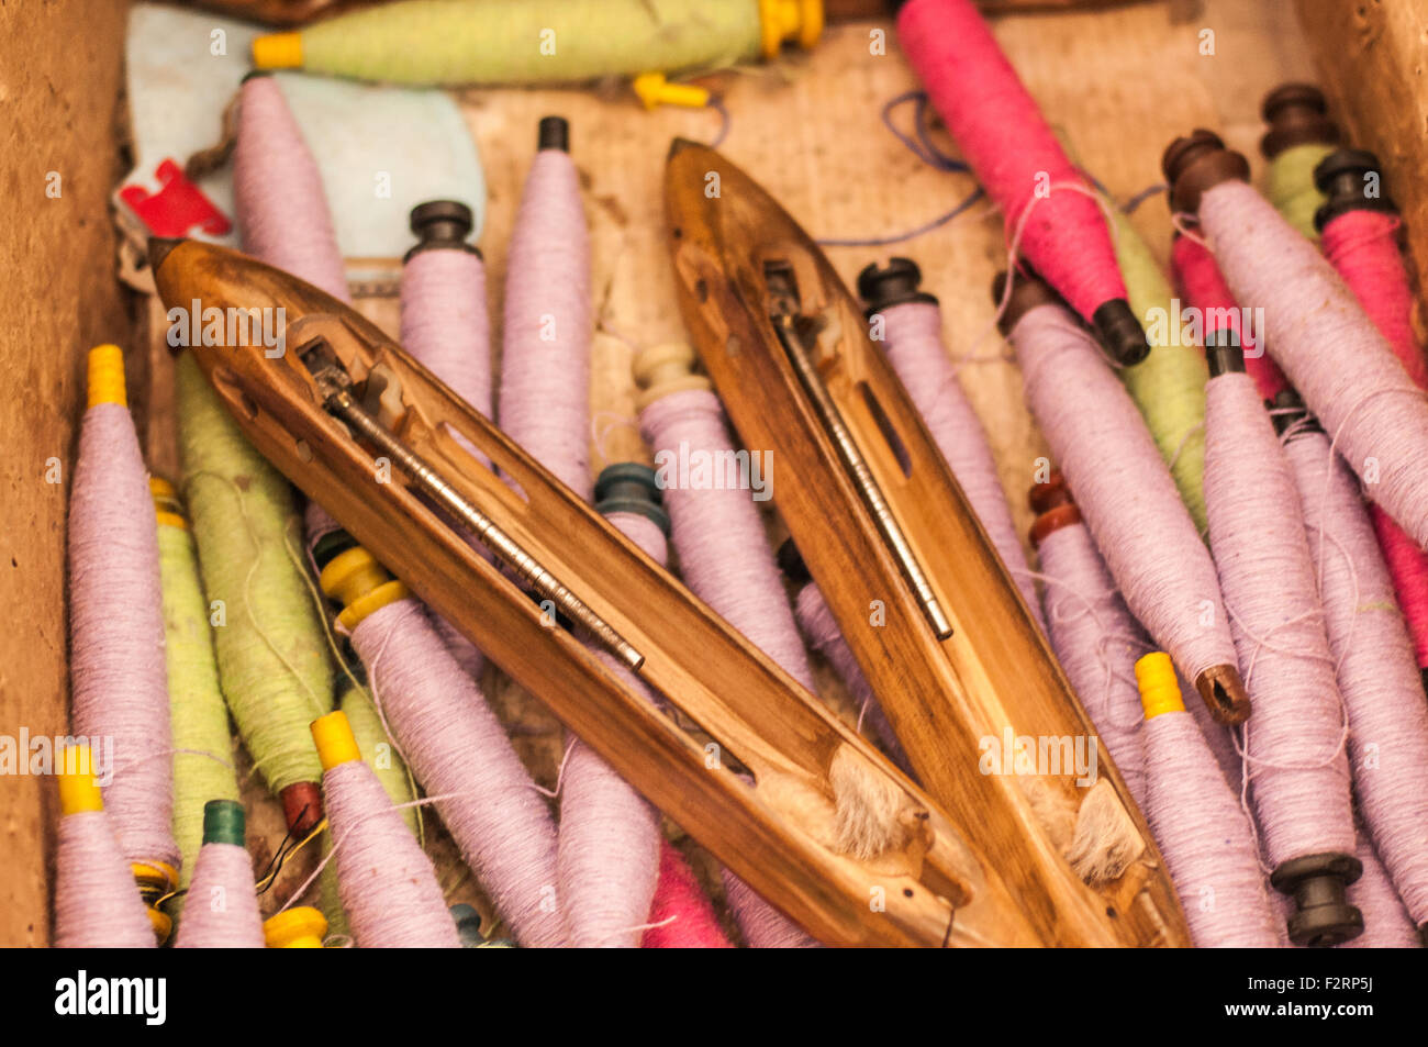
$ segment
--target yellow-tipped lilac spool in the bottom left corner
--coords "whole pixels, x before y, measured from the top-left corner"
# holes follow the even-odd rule
[[[146,913],[119,836],[104,810],[87,744],[57,754],[54,944],[60,948],[153,948],[161,913]],[[151,923],[153,920],[153,923]]]

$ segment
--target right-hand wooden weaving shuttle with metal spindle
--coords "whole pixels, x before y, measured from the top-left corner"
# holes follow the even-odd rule
[[[778,459],[773,503],[928,794],[1044,943],[1188,944],[1104,748],[1091,776],[1050,767],[1095,731],[823,251],[701,144],[670,150],[665,206],[704,370],[743,446]]]

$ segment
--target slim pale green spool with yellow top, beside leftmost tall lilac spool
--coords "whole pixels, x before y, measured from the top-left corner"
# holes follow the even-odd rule
[[[164,600],[164,653],[169,663],[169,716],[174,747],[174,840],[183,863],[178,887],[187,890],[203,846],[203,806],[238,800],[233,768],[228,708],[213,657],[208,601],[198,578],[198,557],[188,520],[174,489],[150,480],[159,521],[159,570]],[[183,894],[170,903],[183,908]]]

